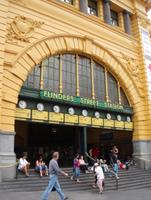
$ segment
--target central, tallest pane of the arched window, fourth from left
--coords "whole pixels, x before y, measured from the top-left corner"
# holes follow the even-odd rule
[[[91,98],[91,66],[90,59],[79,56],[79,89],[80,96]]]

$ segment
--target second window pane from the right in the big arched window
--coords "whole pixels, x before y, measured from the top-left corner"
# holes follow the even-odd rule
[[[108,73],[108,94],[111,103],[119,103],[117,81],[110,73]]]

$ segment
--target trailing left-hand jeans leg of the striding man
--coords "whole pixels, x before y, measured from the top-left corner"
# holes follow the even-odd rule
[[[48,195],[52,191],[52,189],[53,189],[53,187],[54,187],[54,185],[56,183],[56,180],[57,180],[56,175],[51,175],[50,176],[50,180],[49,180],[48,186],[45,189],[45,191],[44,191],[44,193],[42,195],[41,200],[48,200]]]

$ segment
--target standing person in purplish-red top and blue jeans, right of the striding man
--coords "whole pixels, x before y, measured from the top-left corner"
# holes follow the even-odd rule
[[[80,162],[79,162],[79,154],[73,160],[73,176],[71,176],[71,180],[76,178],[77,183],[80,183]]]

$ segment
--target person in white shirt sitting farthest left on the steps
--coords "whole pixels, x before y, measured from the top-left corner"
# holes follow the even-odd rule
[[[30,163],[26,159],[27,159],[27,153],[23,153],[22,158],[19,159],[18,170],[25,173],[26,176],[29,176],[28,170]]]

